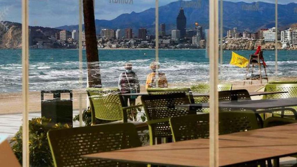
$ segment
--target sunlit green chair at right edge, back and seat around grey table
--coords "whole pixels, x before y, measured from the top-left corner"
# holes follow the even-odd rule
[[[267,94],[263,95],[263,99],[277,99],[277,98],[290,98],[297,97],[297,83],[282,83],[282,84],[267,84],[265,85],[264,92],[278,92],[283,91],[287,93]],[[297,106],[290,108],[275,109],[273,116],[288,117],[294,119],[293,112],[296,112]],[[292,112],[293,111],[293,112]]]

